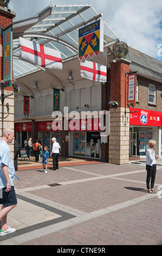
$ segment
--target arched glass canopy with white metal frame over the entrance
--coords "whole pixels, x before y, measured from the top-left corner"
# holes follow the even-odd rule
[[[62,62],[66,62],[77,57],[79,29],[101,16],[90,4],[50,5],[30,19],[13,22],[14,78],[41,68],[21,59],[20,36],[60,51]],[[103,22],[106,45],[118,37]]]

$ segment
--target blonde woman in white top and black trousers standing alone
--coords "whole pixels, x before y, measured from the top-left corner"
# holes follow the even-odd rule
[[[153,139],[151,139],[148,142],[148,145],[150,148],[148,148],[146,152],[146,170],[147,170],[146,186],[147,186],[148,193],[157,193],[153,189],[155,175],[157,172],[156,159],[158,157],[158,155],[155,155],[155,152],[153,150],[153,148],[155,147],[155,144],[156,142]],[[150,188],[150,180],[151,180],[151,188]]]

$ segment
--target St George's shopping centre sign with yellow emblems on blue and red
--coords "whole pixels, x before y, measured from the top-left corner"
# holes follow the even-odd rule
[[[93,60],[103,52],[103,20],[79,29],[79,59]]]

